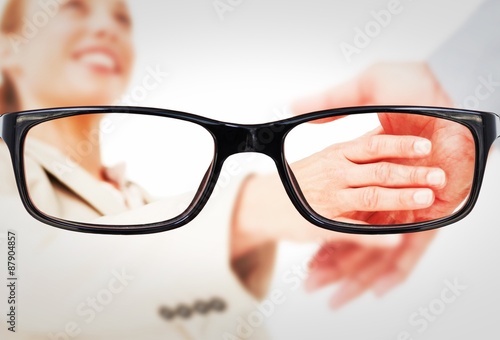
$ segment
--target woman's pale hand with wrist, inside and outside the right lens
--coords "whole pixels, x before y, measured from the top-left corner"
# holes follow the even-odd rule
[[[291,167],[296,178],[305,179],[301,189],[309,203],[324,207],[317,212],[330,219],[366,223],[367,211],[370,216],[379,211],[432,205],[433,189],[441,188],[446,181],[443,170],[396,163],[424,159],[431,149],[431,142],[425,138],[384,135],[377,129],[356,140],[331,145]],[[383,159],[393,161],[379,162]],[[378,186],[376,199],[374,185]],[[312,226],[292,206],[277,175],[258,175],[249,178],[241,191],[233,229],[233,256],[281,240],[382,246],[386,245],[384,238],[333,233]]]

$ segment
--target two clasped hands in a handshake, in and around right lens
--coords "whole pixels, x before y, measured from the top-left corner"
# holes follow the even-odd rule
[[[388,104],[453,105],[426,64],[378,64],[347,83],[297,102],[294,112]],[[323,152],[325,157],[336,155],[337,161],[318,173],[340,175],[333,183],[340,204],[324,213],[355,223],[394,224],[455,212],[470,194],[474,176],[470,132],[460,124],[423,116],[378,116],[379,129]],[[294,166],[297,172],[304,162],[307,159]],[[303,176],[305,187],[308,178],[312,177]],[[366,188],[373,184],[379,189]],[[329,192],[310,193],[318,210],[325,209],[322,203]],[[353,202],[372,212],[349,211]],[[306,287],[314,291],[340,284],[330,300],[332,308],[368,290],[384,295],[406,279],[435,234],[403,234],[389,247],[360,235],[327,240],[310,262]]]

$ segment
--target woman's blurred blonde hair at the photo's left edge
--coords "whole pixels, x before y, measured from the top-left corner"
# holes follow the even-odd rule
[[[0,18],[0,32],[4,36],[17,33],[21,30],[24,0],[7,0]],[[18,109],[17,94],[14,84],[5,72],[1,75],[0,83],[0,114]]]

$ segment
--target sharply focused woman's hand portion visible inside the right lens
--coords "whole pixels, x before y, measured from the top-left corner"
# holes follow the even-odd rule
[[[321,216],[351,223],[393,224],[394,215],[430,208],[445,172],[413,166],[431,154],[429,140],[382,134],[377,129],[334,144],[291,165],[309,205]],[[404,164],[406,163],[406,164]]]

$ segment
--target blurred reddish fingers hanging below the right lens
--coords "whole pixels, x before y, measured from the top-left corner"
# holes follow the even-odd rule
[[[381,297],[404,282],[427,250],[437,231],[404,234],[395,248],[366,246],[355,242],[329,242],[309,265],[306,289],[315,291],[339,284],[329,301],[338,309],[368,290]]]

